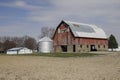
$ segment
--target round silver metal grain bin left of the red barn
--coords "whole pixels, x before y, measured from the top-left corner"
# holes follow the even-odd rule
[[[49,37],[44,37],[39,40],[39,52],[49,53],[53,51],[53,40]]]

